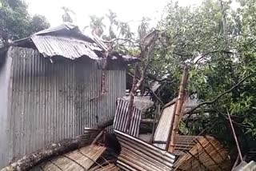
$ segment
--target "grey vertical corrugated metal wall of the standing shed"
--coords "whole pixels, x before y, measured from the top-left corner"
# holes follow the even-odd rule
[[[14,160],[81,134],[97,117],[114,116],[117,98],[125,95],[125,70],[106,71],[102,94],[102,70],[89,58],[53,58],[51,63],[37,50],[15,47],[13,52],[9,144]]]

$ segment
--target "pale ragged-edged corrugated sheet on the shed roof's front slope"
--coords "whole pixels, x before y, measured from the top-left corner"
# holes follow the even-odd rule
[[[75,59],[86,55],[94,60],[100,59],[98,55],[95,54],[94,50],[101,51],[101,49],[95,43],[85,42],[77,38],[56,37],[51,35],[33,35],[31,39],[44,57],[59,55]]]

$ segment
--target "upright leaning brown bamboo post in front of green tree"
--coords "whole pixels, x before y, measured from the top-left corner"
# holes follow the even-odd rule
[[[188,70],[187,70],[186,66],[184,66],[184,70],[183,70],[183,74],[182,74],[182,82],[181,82],[181,85],[179,88],[178,100],[177,100],[177,105],[176,105],[176,109],[175,109],[174,125],[173,125],[173,129],[172,129],[171,135],[170,135],[170,147],[168,150],[170,153],[174,153],[175,137],[176,137],[176,133],[178,133],[178,125],[179,125],[180,116],[182,113],[182,105],[184,103],[187,79],[188,79]]]

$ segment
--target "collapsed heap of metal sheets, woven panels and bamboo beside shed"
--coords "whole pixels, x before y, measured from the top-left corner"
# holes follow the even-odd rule
[[[183,85],[181,89],[184,90]],[[140,124],[143,112],[151,105],[147,105],[147,101],[146,104],[140,101],[140,105],[130,108],[127,99],[119,98],[114,118],[86,128],[84,135],[78,139],[77,149],[45,156],[40,161],[30,163],[26,169],[230,170],[229,154],[214,137],[178,134],[176,122],[182,117],[186,97],[186,93],[182,92],[182,95],[165,105],[162,112],[159,109],[156,129],[149,134],[140,134]],[[106,133],[106,127],[110,125],[113,125],[114,133]]]

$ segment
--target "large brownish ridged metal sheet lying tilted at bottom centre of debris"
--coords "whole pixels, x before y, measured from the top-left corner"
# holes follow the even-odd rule
[[[171,170],[175,156],[126,133],[114,130],[122,146],[118,167],[123,170]]]

